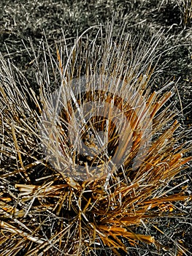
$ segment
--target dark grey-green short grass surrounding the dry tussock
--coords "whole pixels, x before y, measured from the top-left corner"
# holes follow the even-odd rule
[[[134,0],[134,1],[2,1],[0,2],[0,51],[5,59],[11,59],[29,80],[32,87],[37,85],[34,69],[29,65],[33,59],[26,48],[32,53],[29,39],[32,40],[34,50],[39,49],[42,39],[50,48],[55,50],[55,43],[62,41],[63,32],[66,42],[72,44],[77,35],[82,34],[90,26],[102,24],[115,18],[115,30],[118,32],[123,21],[126,20],[126,33],[147,42],[151,37],[158,37],[159,31],[164,31],[158,45],[162,53],[157,69],[160,75],[153,83],[154,89],[161,89],[168,80],[177,82],[177,108],[183,109],[180,122],[188,129],[185,140],[191,140],[192,124],[192,28],[191,1],[188,0]],[[88,37],[93,39],[96,30],[91,29]],[[166,65],[165,65],[166,63]],[[173,100],[174,100],[173,99]],[[182,105],[180,105],[180,99]],[[180,178],[181,182],[188,179],[186,193],[191,194],[191,167]],[[171,184],[174,185],[174,184]],[[171,186],[170,185],[170,186]],[[149,224],[150,234],[154,235],[164,249],[161,255],[172,255],[175,242],[183,245],[188,252],[192,252],[192,207],[191,203],[177,203],[180,217],[156,219],[156,225],[164,231],[164,235]],[[183,213],[183,214],[182,214]],[[185,216],[185,217],[184,217]],[[153,222],[154,224],[154,222]],[[139,227],[141,233],[142,227]],[[143,227],[144,228],[144,227]],[[154,248],[129,249],[129,255],[156,255]],[[151,252],[150,252],[151,251]],[[101,253],[102,255],[102,253]]]

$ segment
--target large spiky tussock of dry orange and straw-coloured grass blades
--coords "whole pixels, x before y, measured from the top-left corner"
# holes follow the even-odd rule
[[[56,47],[56,58],[46,42],[41,43],[38,52],[34,50],[31,65],[36,70],[39,93],[31,89],[11,62],[1,58],[2,256],[122,255],[123,252],[163,255],[167,241],[155,237],[154,230],[164,238],[166,233],[158,227],[157,219],[188,219],[189,212],[180,210],[175,202],[183,202],[187,209],[191,201],[191,195],[186,192],[188,179],[182,177],[191,160],[187,157],[191,144],[183,140],[185,130],[177,121],[179,113],[171,99],[175,93],[174,82],[152,91],[160,56],[156,50],[158,40],[152,38],[145,44],[141,38],[136,46],[130,35],[121,37],[122,31],[117,34],[112,26],[107,26],[104,37],[100,26],[91,31],[94,29],[97,36],[93,40],[86,37],[87,31],[72,47],[67,47],[63,38],[61,46]],[[155,38],[158,37],[155,35]],[[84,158],[82,168],[87,175],[88,166],[105,167],[99,169],[99,177],[89,173],[88,180],[81,179],[76,169],[80,156],[66,140],[70,127],[77,126],[76,121],[71,120],[78,108],[74,99],[69,99],[64,113],[58,115],[55,122],[57,141],[64,152],[62,156],[58,154],[58,148],[53,148],[55,144],[50,144],[50,150],[58,162],[63,161],[62,157],[71,157],[72,178],[70,173],[66,175],[67,170],[55,169],[47,161],[42,151],[45,138],[39,131],[40,116],[46,113],[48,118],[52,117],[49,110],[52,108],[50,96],[55,89],[53,83],[56,89],[62,85],[65,92],[70,92],[72,79],[96,74],[123,80],[120,91],[123,99],[115,93],[105,94],[109,89],[107,83],[101,91],[89,94],[88,84],[87,92],[77,94],[78,105],[82,106],[86,100],[108,102],[111,108],[117,107],[126,116],[131,129],[126,127],[123,135],[127,137],[124,136],[124,144],[120,144],[122,137],[117,135],[115,126],[110,124],[106,128],[101,116],[93,117],[84,133],[91,129],[93,132],[93,128],[97,132],[107,129],[106,155],[99,155],[91,162]],[[134,97],[128,94],[130,87],[135,90]],[[143,99],[139,105],[138,95]],[[143,121],[146,116],[151,126]],[[112,115],[110,122],[113,118]],[[151,128],[146,136],[141,120],[145,129]],[[50,135],[49,130],[45,132]],[[127,140],[132,140],[131,150],[126,147]],[[134,159],[142,143],[149,147],[147,155],[135,167]],[[118,152],[117,159],[124,157],[124,161],[118,168],[112,163],[109,172],[109,159],[114,151]],[[185,244],[174,241],[171,235],[166,238],[172,242],[170,255],[189,255]]]

